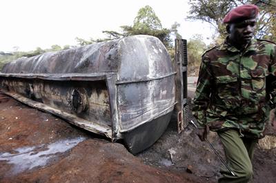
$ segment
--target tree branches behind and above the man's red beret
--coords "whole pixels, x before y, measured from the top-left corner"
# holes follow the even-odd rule
[[[221,39],[227,34],[225,25],[222,23],[226,14],[231,9],[246,3],[256,4],[261,10],[257,24],[257,37],[266,38],[268,36],[268,39],[275,39],[275,0],[190,0],[190,16],[187,18],[210,23],[219,32]]]

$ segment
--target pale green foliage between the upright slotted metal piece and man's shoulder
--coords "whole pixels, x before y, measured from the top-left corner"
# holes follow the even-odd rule
[[[200,34],[195,34],[187,43],[188,49],[188,75],[195,76],[199,72],[201,55],[207,49]]]

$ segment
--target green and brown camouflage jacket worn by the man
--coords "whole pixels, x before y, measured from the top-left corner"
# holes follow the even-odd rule
[[[241,52],[227,41],[202,56],[193,115],[199,127],[239,129],[262,138],[276,104],[276,45],[252,39]]]

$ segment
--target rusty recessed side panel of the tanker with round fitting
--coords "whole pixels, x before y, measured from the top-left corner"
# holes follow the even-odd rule
[[[8,77],[1,80],[3,92],[19,94],[82,120],[111,129],[110,99],[105,80],[47,80]],[[99,78],[98,78],[99,79]],[[26,100],[26,101],[30,101]]]

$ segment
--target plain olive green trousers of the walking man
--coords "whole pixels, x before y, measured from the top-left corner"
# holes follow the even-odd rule
[[[218,132],[218,135],[224,147],[226,163],[236,175],[233,176],[223,166],[219,182],[248,182],[253,176],[251,160],[258,140],[244,138],[235,129]]]

